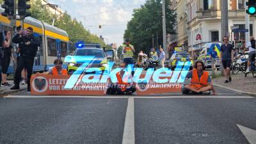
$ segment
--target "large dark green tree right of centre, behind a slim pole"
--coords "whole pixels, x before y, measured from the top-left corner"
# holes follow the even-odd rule
[[[173,34],[176,14],[170,10],[170,1],[165,0],[166,33]],[[158,37],[158,44],[163,42],[163,18],[161,0],[147,0],[141,8],[135,9],[132,19],[127,24],[124,38],[129,38],[136,52],[149,52],[152,47],[152,36]]]

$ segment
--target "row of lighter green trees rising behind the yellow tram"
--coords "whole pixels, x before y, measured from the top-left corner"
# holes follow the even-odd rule
[[[31,2],[30,10],[31,17],[47,22],[48,24],[52,24],[52,18],[56,17],[47,8],[42,7],[41,0]],[[70,42],[72,42],[71,51],[75,49],[74,44],[79,40],[83,40],[86,43],[99,43],[102,47],[106,46],[97,35],[92,35],[89,31],[86,31],[82,22],[77,21],[76,18],[72,19],[67,12],[63,13],[63,15],[55,20],[54,26],[67,31]]]

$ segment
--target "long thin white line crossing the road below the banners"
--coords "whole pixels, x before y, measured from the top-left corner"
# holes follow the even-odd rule
[[[224,93],[223,93],[224,95]],[[129,96],[134,99],[205,99],[205,98],[214,98],[214,99],[254,99],[255,97],[250,96]],[[65,96],[65,95],[9,95],[4,98],[84,98],[84,99],[127,99],[128,96]]]

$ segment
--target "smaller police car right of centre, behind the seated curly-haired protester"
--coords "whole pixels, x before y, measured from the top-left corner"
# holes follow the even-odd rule
[[[168,60],[168,68],[171,68],[174,70],[177,67],[177,64],[179,61],[185,62],[185,61],[191,61],[191,66],[189,67],[189,70],[193,69],[193,58],[189,55],[188,52],[174,52],[172,54],[172,57]]]

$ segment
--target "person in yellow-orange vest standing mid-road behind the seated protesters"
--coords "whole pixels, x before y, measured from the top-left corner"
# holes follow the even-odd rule
[[[135,52],[135,49],[133,45],[130,44],[129,39],[125,39],[125,45],[123,45],[123,58],[125,66],[132,65],[132,76],[134,75],[134,60],[133,60],[133,54]]]

